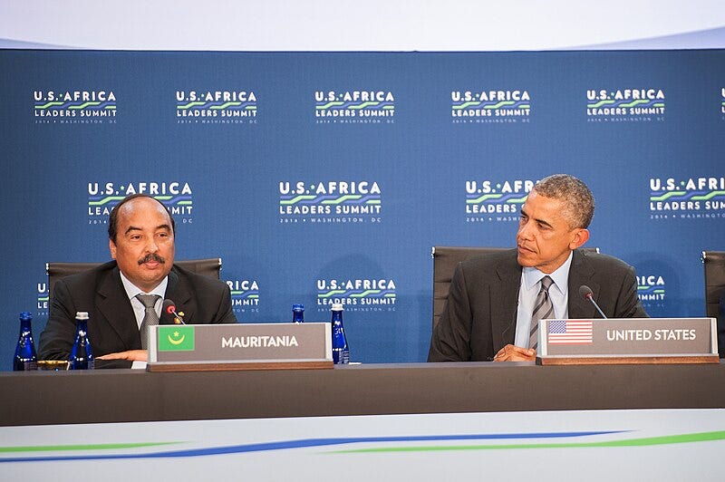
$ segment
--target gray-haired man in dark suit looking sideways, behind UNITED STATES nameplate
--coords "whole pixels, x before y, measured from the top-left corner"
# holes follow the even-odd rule
[[[577,249],[593,216],[594,197],[581,180],[557,174],[537,183],[521,208],[517,248],[456,267],[428,361],[536,360],[541,300],[547,318],[597,317],[578,293],[583,284],[607,316],[646,317],[632,266]]]

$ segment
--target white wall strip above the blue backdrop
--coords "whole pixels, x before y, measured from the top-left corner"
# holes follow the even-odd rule
[[[725,48],[721,0],[0,0],[0,48]]]

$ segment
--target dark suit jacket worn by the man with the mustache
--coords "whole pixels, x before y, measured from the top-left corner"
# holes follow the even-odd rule
[[[237,323],[229,287],[217,279],[174,265],[169,272],[165,297],[184,312],[187,324]],[[57,281],[48,323],[40,335],[40,360],[68,359],[75,339],[76,312],[89,314],[88,338],[93,356],[140,350],[139,326],[115,261]],[[161,322],[164,321],[162,317]],[[131,362],[105,364],[131,366]],[[97,367],[103,365],[102,361],[96,362]]]

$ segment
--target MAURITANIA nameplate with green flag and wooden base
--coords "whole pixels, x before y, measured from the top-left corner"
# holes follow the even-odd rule
[[[332,368],[331,330],[330,323],[156,325],[147,370]]]

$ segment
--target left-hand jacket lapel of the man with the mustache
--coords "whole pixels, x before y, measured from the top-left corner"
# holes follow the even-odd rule
[[[98,311],[121,338],[126,349],[140,348],[139,325],[136,323],[136,315],[133,314],[126,290],[121,284],[118,267],[103,276],[96,289],[96,294]]]

